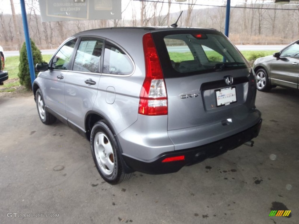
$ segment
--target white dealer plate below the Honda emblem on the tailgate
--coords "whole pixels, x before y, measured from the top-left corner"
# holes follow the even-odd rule
[[[230,105],[237,102],[236,87],[215,90],[217,107]]]

